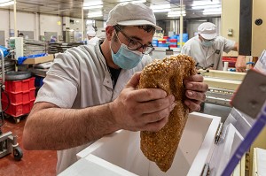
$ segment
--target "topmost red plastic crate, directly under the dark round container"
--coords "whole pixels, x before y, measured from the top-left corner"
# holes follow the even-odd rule
[[[35,88],[35,77],[26,80],[5,80],[5,91],[24,92]]]

